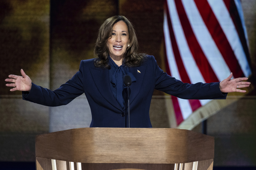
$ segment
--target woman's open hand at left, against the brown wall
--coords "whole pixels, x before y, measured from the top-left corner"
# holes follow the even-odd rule
[[[6,82],[12,82],[6,84],[8,87],[13,87],[10,91],[30,91],[32,87],[31,79],[25,74],[23,69],[20,70],[22,76],[9,75],[11,79],[5,79]]]

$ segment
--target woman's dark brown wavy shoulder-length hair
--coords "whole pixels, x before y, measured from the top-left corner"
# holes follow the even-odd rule
[[[110,68],[110,65],[108,64],[109,50],[107,47],[107,41],[112,36],[113,26],[119,21],[126,23],[129,34],[129,47],[127,47],[124,54],[124,64],[128,67],[136,67],[141,65],[145,60],[146,54],[140,54],[137,52],[139,45],[131,22],[126,17],[118,15],[105,20],[99,28],[98,38],[94,48],[94,65],[96,67]]]

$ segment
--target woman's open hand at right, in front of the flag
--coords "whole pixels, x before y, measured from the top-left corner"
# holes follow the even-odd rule
[[[220,89],[222,93],[230,93],[230,92],[241,92],[245,93],[245,90],[240,90],[239,88],[246,88],[250,86],[250,82],[243,82],[243,80],[247,80],[246,77],[240,77],[236,79],[231,79],[233,73],[230,74],[227,79],[224,79],[220,82]]]

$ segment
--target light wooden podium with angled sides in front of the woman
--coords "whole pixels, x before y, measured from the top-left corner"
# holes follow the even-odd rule
[[[37,170],[212,170],[214,138],[169,128],[78,128],[36,136]]]

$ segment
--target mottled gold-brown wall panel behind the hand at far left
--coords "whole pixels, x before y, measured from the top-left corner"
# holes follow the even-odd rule
[[[0,161],[34,161],[35,134],[49,131],[49,108],[25,102],[4,79],[20,75],[49,88],[49,0],[0,1]]]

